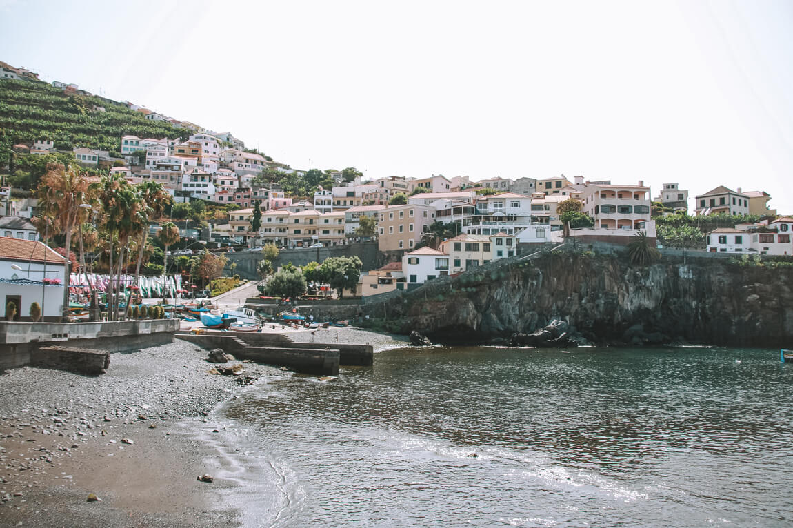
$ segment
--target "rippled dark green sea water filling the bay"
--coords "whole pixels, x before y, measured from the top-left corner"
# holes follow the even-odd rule
[[[268,480],[251,526],[793,524],[774,350],[389,350],[219,413]]]

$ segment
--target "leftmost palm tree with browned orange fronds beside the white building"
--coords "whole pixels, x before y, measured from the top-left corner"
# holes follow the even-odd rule
[[[49,216],[56,228],[66,235],[67,262],[71,248],[71,231],[79,223],[82,212],[80,205],[87,204],[89,181],[79,168],[51,164],[47,174],[41,177],[38,187],[39,208],[43,215]],[[69,316],[69,265],[63,280],[63,312],[62,319]]]

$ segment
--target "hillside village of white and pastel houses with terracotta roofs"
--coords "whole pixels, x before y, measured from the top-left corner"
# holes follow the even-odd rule
[[[2,78],[40,82],[35,74],[5,63]],[[70,97],[94,97],[73,84],[52,86]],[[180,136],[123,134],[114,150],[82,144],[56,148],[53,138],[42,136],[13,144],[13,155],[74,155],[76,163],[97,174],[120,174],[133,185],[159,182],[173,197],[174,219],[177,209],[184,218],[195,204],[220,210],[223,214],[194,223],[192,229],[187,224],[182,228],[183,238],[201,240],[207,247],[259,251],[273,244],[298,250],[376,242],[381,261],[388,263],[362,277],[358,293],[363,296],[412,289],[435,277],[565,240],[582,247],[625,246],[642,233],[653,246],[663,246],[659,223],[689,212],[699,218],[728,217],[720,227],[695,235],[701,240],[692,251],[793,254],[793,217],[769,209],[771,197],[763,190],[716,186],[696,194],[690,211],[689,191],[677,182],[665,183],[653,197],[641,180],[595,182],[560,175],[472,181],[440,174],[366,178],[353,167],[299,170],[247,149],[231,132],[214,132],[130,102],[107,104],[124,105],[147,121],[168,124]],[[94,104],[90,111],[105,108]],[[0,219],[0,235],[37,239],[35,228],[24,220],[36,216],[33,197],[13,199],[13,189],[3,186],[0,213],[6,216]],[[151,225],[152,232],[157,228]]]

